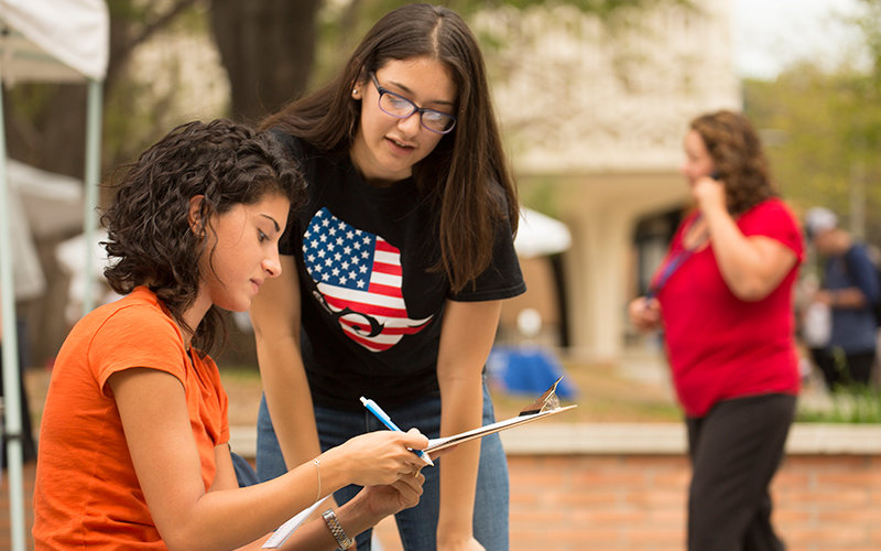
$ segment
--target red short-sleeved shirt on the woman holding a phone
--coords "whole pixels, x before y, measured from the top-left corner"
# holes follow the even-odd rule
[[[664,266],[683,250],[683,229]],[[690,255],[657,293],[676,393],[688,417],[703,417],[720,401],[771,392],[798,392],[793,284],[804,258],[795,217],[777,198],[743,213],[737,226],[746,236],[765,236],[795,252],[797,261],[771,294],[746,302],[722,280],[713,247]],[[655,276],[655,279],[657,274]]]

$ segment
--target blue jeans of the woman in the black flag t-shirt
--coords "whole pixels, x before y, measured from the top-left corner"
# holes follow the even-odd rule
[[[395,424],[404,430],[417,428],[429,439],[440,431],[440,396],[398,409],[385,409]],[[367,410],[363,412],[337,411],[315,408],[318,437],[322,450],[342,444],[352,436],[385,428]],[[494,422],[492,400],[483,385],[483,423]],[[444,461],[443,457],[438,461]],[[285,473],[279,441],[272,429],[265,397],[260,403],[257,422],[257,474],[261,482]],[[437,548],[437,516],[439,512],[439,471],[437,467],[422,469],[425,475],[422,499],[416,507],[404,509],[394,516],[398,533],[406,551],[434,551]],[[481,441],[480,465],[475,497],[474,533],[487,551],[508,551],[508,460],[498,434]],[[351,499],[359,486],[347,486],[334,494],[337,504]],[[370,551],[372,530],[358,536],[358,551]]]

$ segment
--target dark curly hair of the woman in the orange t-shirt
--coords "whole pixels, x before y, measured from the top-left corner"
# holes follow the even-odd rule
[[[189,199],[204,195],[199,219],[207,224],[213,214],[268,194],[300,206],[305,181],[270,133],[224,119],[181,125],[123,169],[121,181],[110,185],[113,202],[101,215],[108,235],[101,245],[111,260],[118,259],[105,269],[105,278],[120,294],[146,285],[207,354],[218,335],[226,337],[226,326],[217,306],[198,327],[183,320],[198,292],[198,259],[206,241],[187,220]]]

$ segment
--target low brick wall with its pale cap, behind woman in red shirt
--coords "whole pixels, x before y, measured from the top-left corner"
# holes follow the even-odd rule
[[[511,551],[685,549],[681,424],[547,424],[503,441]],[[796,424],[786,452],[771,491],[788,551],[881,549],[881,428]]]

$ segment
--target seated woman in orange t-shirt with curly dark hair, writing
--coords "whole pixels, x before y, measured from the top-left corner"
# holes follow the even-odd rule
[[[102,217],[124,296],[72,329],[40,436],[34,541],[59,549],[259,549],[317,498],[367,485],[285,549],[335,549],[418,501],[412,431],[351,439],[275,480],[239,488],[227,397],[207,355],[221,310],[246,311],[281,272],[279,238],[303,179],[269,134],[192,122],[141,155]],[[329,529],[328,529],[329,528]]]

